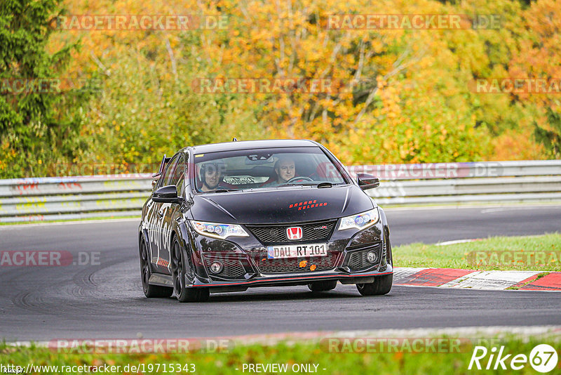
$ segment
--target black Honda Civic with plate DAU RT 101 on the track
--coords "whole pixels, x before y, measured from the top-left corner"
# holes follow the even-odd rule
[[[393,279],[384,211],[323,145],[250,140],[163,157],[138,231],[147,297],[356,284],[387,294]]]

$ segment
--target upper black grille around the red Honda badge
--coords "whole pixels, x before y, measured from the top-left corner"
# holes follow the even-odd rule
[[[320,221],[307,224],[290,224],[290,225],[248,225],[248,229],[264,244],[279,244],[289,241],[286,237],[286,229],[290,227],[302,228],[302,239],[298,241],[321,241],[329,239],[336,220]]]

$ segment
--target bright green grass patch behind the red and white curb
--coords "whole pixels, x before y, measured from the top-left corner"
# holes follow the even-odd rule
[[[396,267],[561,271],[559,233],[490,237],[477,242],[445,246],[409,244],[392,250]]]

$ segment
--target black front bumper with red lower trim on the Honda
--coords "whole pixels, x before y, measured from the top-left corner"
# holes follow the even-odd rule
[[[302,285],[321,280],[338,280],[342,284],[368,283],[373,282],[374,277],[393,273],[393,266],[388,263],[388,236],[384,223],[379,221],[362,231],[337,231],[337,228],[336,225],[329,239],[323,241],[327,243],[327,256],[273,261],[266,259],[267,244],[259,242],[249,231],[250,237],[224,240],[190,230],[195,272],[191,273],[191,279],[186,279],[186,284],[189,287],[210,287],[210,291],[215,292],[243,291],[249,287]],[[376,262],[365,261],[368,251],[378,254]],[[223,269],[213,274],[210,264],[215,261],[222,263]]]

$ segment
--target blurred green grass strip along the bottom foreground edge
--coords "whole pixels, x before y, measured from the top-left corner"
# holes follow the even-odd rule
[[[488,341],[487,341],[488,340]],[[520,371],[513,371],[508,367],[510,360],[516,354],[529,356],[532,348],[540,343],[550,343],[558,347],[557,343],[543,338],[502,338],[501,341],[491,341],[486,339],[484,345],[489,350],[492,346],[500,348],[504,345],[503,353],[512,353],[510,359],[506,360],[507,370],[498,369],[496,371],[468,370],[468,364],[473,353],[471,343],[459,346],[459,353],[410,353],[405,350],[393,350],[392,353],[330,353],[327,346],[319,343],[296,343],[287,345],[278,343],[273,346],[235,346],[227,353],[158,353],[158,354],[83,354],[83,353],[57,353],[47,348],[13,348],[0,344],[0,363],[17,364],[26,367],[28,363],[35,365],[58,365],[58,366],[102,366],[103,364],[119,365],[124,367],[126,364],[144,364],[147,368],[149,364],[155,366],[163,364],[194,364],[195,374],[248,374],[246,369],[242,371],[243,364],[288,364],[287,374],[294,374],[290,368],[292,364],[318,364],[317,374],[536,374],[530,364]],[[437,350],[438,351],[438,350]],[[481,363],[485,367],[489,354]],[[236,368],[238,370],[236,370]],[[312,367],[313,368],[313,367]],[[325,370],[324,370],[325,369]],[[561,362],[557,364],[557,370],[561,369]],[[24,369],[25,371],[25,369]],[[61,374],[65,372],[59,371]],[[144,374],[152,374],[156,371],[146,370]],[[163,373],[163,371],[159,371]],[[43,374],[53,374],[53,371],[44,371]],[[101,373],[101,372],[98,372]],[[171,372],[169,372],[171,373]],[[173,371],[175,373],[175,371]],[[183,373],[183,372],[182,372]],[[89,373],[93,374],[93,373]],[[108,373],[109,374],[109,373]],[[118,372],[123,374],[123,371]],[[254,373],[255,374],[255,373]],[[264,374],[264,373],[262,373]],[[270,374],[270,373],[269,373]],[[559,374],[559,372],[557,372]]]

